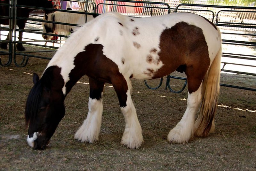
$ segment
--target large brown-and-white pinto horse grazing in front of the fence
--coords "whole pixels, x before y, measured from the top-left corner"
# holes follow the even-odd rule
[[[41,79],[33,76],[25,118],[28,144],[44,149],[64,117],[64,99],[83,76],[89,77],[89,112],[75,139],[99,139],[105,83],[116,91],[125,119],[121,144],[139,148],[142,129],[131,98],[130,79],[155,79],[177,70],[188,80],[187,109],[169,132],[170,143],[188,142],[214,131],[220,80],[221,34],[193,13],[132,18],[102,14],[77,29],[56,52]],[[198,106],[200,111],[195,121]]]

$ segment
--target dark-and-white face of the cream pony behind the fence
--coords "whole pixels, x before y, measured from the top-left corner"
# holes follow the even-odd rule
[[[44,16],[44,21],[53,21],[52,17],[54,17],[54,14],[48,14]],[[54,19],[54,18],[53,18]],[[46,22],[42,22],[43,25],[43,33],[49,33],[49,34],[55,34],[55,24],[54,23],[46,23]],[[51,40],[52,39],[52,35],[42,35],[42,37],[45,40]]]

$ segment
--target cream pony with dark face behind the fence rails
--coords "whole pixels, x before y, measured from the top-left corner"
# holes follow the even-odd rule
[[[78,11],[78,12],[85,12],[85,11]],[[61,23],[68,23],[68,24],[77,24],[82,25],[93,18],[97,17],[99,14],[95,15],[87,15],[86,14],[79,14],[79,13],[71,13],[71,12],[54,12],[48,15],[45,15],[44,21],[56,21]],[[69,35],[76,29],[78,26],[68,26],[64,24],[55,24],[55,23],[46,23],[42,22],[44,27],[43,33],[49,34],[60,34],[60,35]],[[45,40],[51,40],[51,35],[42,35]]]

